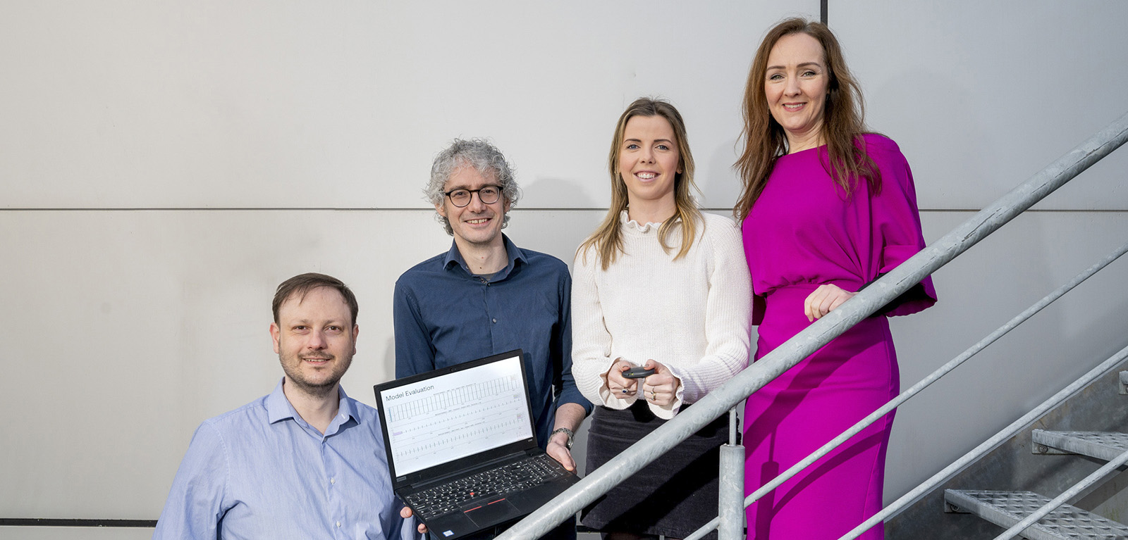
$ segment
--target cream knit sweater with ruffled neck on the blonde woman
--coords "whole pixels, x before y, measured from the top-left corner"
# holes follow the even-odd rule
[[[667,254],[659,224],[638,224],[626,211],[619,218],[625,253],[606,272],[594,249],[576,254],[572,374],[591,402],[625,409],[637,399],[610,397],[607,371],[617,358],[634,365],[653,358],[678,378],[672,404],[650,404],[667,419],[748,365],[751,281],[740,231],[728,218],[704,218],[697,241],[677,260],[680,229]]]

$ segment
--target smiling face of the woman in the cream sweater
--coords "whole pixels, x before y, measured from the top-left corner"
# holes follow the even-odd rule
[[[681,154],[670,122],[661,116],[631,117],[618,150],[631,219],[660,222],[673,215]]]

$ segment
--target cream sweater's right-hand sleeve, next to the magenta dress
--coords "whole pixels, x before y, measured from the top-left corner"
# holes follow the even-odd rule
[[[669,366],[681,384],[666,410],[651,404],[662,418],[672,418],[682,402],[700,400],[748,366],[752,285],[740,230],[728,219],[711,221],[702,244],[708,254],[705,355],[698,362]]]

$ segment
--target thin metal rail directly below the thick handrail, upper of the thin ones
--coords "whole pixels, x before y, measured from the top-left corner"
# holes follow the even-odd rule
[[[782,473],[779,473],[778,476],[776,476],[774,479],[772,479],[772,481],[768,481],[767,484],[760,486],[759,489],[757,489],[756,492],[752,492],[751,495],[749,495],[747,498],[744,498],[744,507],[748,507],[748,505],[755,503],[756,501],[759,501],[760,497],[763,497],[764,495],[767,495],[773,489],[779,487],[781,484],[787,481],[793,476],[797,475],[800,471],[802,471],[803,469],[805,469],[808,466],[814,463],[816,461],[818,461],[823,455],[830,453],[834,449],[838,448],[841,443],[846,442],[847,440],[849,440],[854,435],[861,433],[862,430],[864,430],[866,426],[869,426],[870,424],[873,424],[879,418],[885,416],[887,414],[889,414],[889,411],[891,411],[895,408],[899,407],[905,401],[908,401],[909,398],[911,398],[913,396],[916,396],[917,393],[920,393],[922,390],[924,390],[925,388],[929,387],[932,383],[938,381],[940,378],[946,375],[952,370],[954,370],[960,364],[962,364],[963,362],[966,362],[969,358],[971,358],[972,356],[975,356],[977,353],[979,353],[984,348],[987,348],[988,345],[995,343],[1001,337],[1005,336],[1007,333],[1010,333],[1011,330],[1013,330],[1014,328],[1016,328],[1019,325],[1021,325],[1022,322],[1024,322],[1028,319],[1030,319],[1031,317],[1033,317],[1036,313],[1038,313],[1039,311],[1041,311],[1042,309],[1045,309],[1046,307],[1048,307],[1050,303],[1054,303],[1055,300],[1061,298],[1063,295],[1065,295],[1065,293],[1072,291],[1077,285],[1082,284],[1085,280],[1090,278],[1091,276],[1093,276],[1093,274],[1096,274],[1102,268],[1104,268],[1105,266],[1108,266],[1109,264],[1111,264],[1113,260],[1117,260],[1118,258],[1120,258],[1126,253],[1128,253],[1128,242],[1126,242],[1125,245],[1122,245],[1119,248],[1117,248],[1116,250],[1113,250],[1111,254],[1109,254],[1108,256],[1105,256],[1103,259],[1099,260],[1096,264],[1090,266],[1089,268],[1085,268],[1082,273],[1079,273],[1076,276],[1074,276],[1073,280],[1069,280],[1064,285],[1061,285],[1058,289],[1056,289],[1054,292],[1047,294],[1041,300],[1034,302],[1032,306],[1030,306],[1029,308],[1026,308],[1025,310],[1023,310],[1021,313],[1014,316],[1014,318],[1012,318],[1011,320],[1008,320],[1003,326],[996,328],[995,331],[990,333],[987,337],[984,337],[982,339],[980,339],[979,343],[976,343],[975,345],[968,347],[968,349],[964,351],[964,352],[962,352],[962,353],[960,353],[959,356],[952,358],[951,361],[949,361],[946,364],[942,365],[936,371],[929,373],[927,377],[925,377],[924,379],[922,379],[919,382],[917,382],[916,384],[914,384],[911,388],[909,388],[908,390],[905,390],[899,396],[897,396],[896,398],[891,399],[885,405],[881,406],[881,408],[879,408],[878,410],[874,410],[872,414],[870,414],[870,416],[866,416],[865,418],[863,418],[857,424],[854,424],[849,430],[846,430],[840,435],[838,435],[837,437],[832,439],[830,442],[823,444],[821,448],[819,448],[818,450],[816,450],[814,452],[812,452],[810,455],[808,455],[807,458],[804,458],[802,461],[795,463],[790,469],[787,469],[787,470],[783,471]],[[896,512],[897,510],[900,510],[900,508],[892,508],[891,512]],[[710,521],[708,523],[706,523],[700,529],[694,531],[693,534],[689,534],[688,537],[686,537],[685,540],[698,540],[698,539],[703,538],[705,534],[707,534],[711,531],[713,531],[714,529],[716,529],[719,524],[720,524],[719,519],[714,519],[713,521]]]

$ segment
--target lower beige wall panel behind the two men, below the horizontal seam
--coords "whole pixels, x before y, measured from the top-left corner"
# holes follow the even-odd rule
[[[515,211],[515,241],[571,262],[599,218]],[[155,519],[192,432],[281,378],[274,287],[356,292],[347,391],[394,374],[398,275],[450,247],[433,211],[0,212],[0,517]],[[544,240],[537,240],[544,238]],[[23,354],[12,354],[15,351]]]

